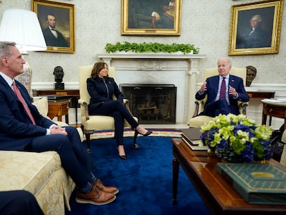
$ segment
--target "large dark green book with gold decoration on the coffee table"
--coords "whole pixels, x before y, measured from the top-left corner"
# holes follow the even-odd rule
[[[218,174],[249,204],[286,205],[286,170],[271,164],[217,163]]]

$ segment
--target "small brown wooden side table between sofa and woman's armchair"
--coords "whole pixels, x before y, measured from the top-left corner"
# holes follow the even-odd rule
[[[48,117],[53,120],[57,116],[57,120],[61,122],[61,117],[65,115],[68,124],[68,105],[70,99],[48,101]]]

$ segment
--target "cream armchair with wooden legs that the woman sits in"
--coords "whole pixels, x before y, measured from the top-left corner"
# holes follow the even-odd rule
[[[86,80],[90,77],[91,70],[93,69],[93,65],[88,66],[79,66],[79,101],[80,111],[81,111],[81,119],[82,119],[82,129],[84,131],[84,135],[86,136],[86,143],[88,153],[90,153],[90,135],[98,130],[107,130],[107,129],[115,129],[114,127],[114,119],[111,116],[106,115],[88,115],[88,104],[90,101],[90,95],[87,91]],[[108,67],[108,76],[113,77],[116,80],[115,67]],[[124,104],[126,108],[130,111],[128,106],[128,100],[124,100]],[[135,118],[136,121],[137,118]],[[128,122],[124,122],[124,127],[130,127]],[[133,144],[135,149],[138,149],[139,146],[136,142],[137,133],[134,135]]]

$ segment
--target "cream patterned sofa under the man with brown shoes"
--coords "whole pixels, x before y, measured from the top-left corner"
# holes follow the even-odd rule
[[[46,97],[34,102],[39,112],[47,117]],[[67,125],[56,122],[59,126]],[[78,129],[83,138],[82,130]],[[55,151],[33,153],[23,151],[0,151],[0,191],[25,189],[36,197],[44,214],[65,214],[70,210],[69,199],[75,183],[61,167]]]

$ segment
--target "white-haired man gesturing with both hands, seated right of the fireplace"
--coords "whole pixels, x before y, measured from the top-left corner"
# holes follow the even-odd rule
[[[196,93],[196,100],[203,100],[207,95],[202,115],[215,117],[216,115],[233,113],[238,115],[238,101],[248,102],[249,96],[243,86],[243,80],[235,75],[230,75],[231,61],[228,58],[218,60],[218,73],[207,78]],[[225,83],[224,83],[225,82]],[[225,88],[221,86],[225,84]],[[221,93],[222,94],[221,94]]]

